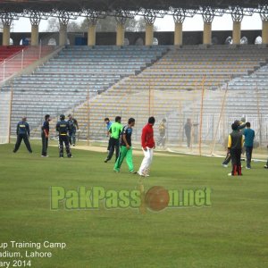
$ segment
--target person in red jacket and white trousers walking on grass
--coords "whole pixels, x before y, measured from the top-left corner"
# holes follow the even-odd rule
[[[155,117],[150,117],[147,125],[142,129],[141,134],[141,146],[144,154],[144,158],[138,170],[138,175],[149,176],[150,166],[153,162],[153,155],[155,149],[155,139],[154,139],[154,127]]]

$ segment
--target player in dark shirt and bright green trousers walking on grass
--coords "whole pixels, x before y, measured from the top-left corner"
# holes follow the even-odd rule
[[[129,166],[129,171],[131,173],[135,173],[133,160],[132,160],[132,144],[131,144],[132,128],[134,126],[135,126],[135,119],[130,118],[128,121],[128,125],[124,126],[121,131],[120,154],[119,154],[119,157],[117,158],[116,163],[114,164],[114,168],[113,168],[114,172],[120,172],[121,164],[123,163],[126,157],[126,161]]]

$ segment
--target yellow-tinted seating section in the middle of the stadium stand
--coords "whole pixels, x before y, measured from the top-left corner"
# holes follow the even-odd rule
[[[188,117],[199,121],[203,84],[206,90],[204,116],[220,113],[223,92],[221,88],[229,81],[231,85],[233,81],[254,77],[254,71],[267,63],[267,52],[267,48],[257,46],[172,48],[159,61],[138,75],[119,81],[104,94],[91,100],[89,107],[84,103],[74,109],[76,118],[80,121],[83,132],[87,133],[86,114],[89,109],[90,136],[97,138],[100,136],[99,132],[104,129],[102,118],[105,116],[113,118],[120,114],[123,121],[134,116],[137,120],[134,137],[138,139],[147,117],[154,114],[158,121],[168,119],[169,139],[176,140],[178,133],[183,135],[183,125]],[[262,73],[263,68],[257,72]],[[248,76],[249,73],[253,74]],[[116,106],[111,99],[117,100]],[[239,100],[237,102],[239,103]],[[247,110],[247,102],[245,109],[235,108],[238,105],[231,102],[231,96],[227,103],[230,104],[230,114],[234,113],[236,118]],[[208,121],[207,119],[207,124]]]

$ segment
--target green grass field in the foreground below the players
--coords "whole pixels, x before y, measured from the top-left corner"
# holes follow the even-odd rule
[[[114,173],[103,153],[73,150],[72,159],[59,159],[50,147],[44,159],[37,143],[32,155],[23,144],[17,154],[12,150],[13,145],[0,146],[0,247],[11,240],[67,244],[49,249],[51,258],[31,259],[31,267],[268,267],[264,163],[231,178],[219,158],[155,156],[146,190],[211,188],[212,205],[147,214],[133,208],[52,211],[52,186],[131,190],[138,187],[138,175],[128,173],[126,164]],[[141,159],[134,156],[136,168]]]

